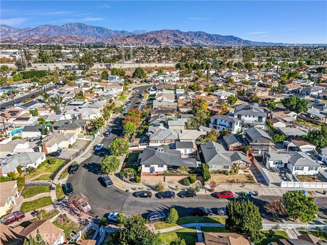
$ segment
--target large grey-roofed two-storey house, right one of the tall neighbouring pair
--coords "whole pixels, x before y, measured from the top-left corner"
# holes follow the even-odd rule
[[[258,104],[235,105],[234,117],[242,120],[243,126],[265,129],[267,113]]]

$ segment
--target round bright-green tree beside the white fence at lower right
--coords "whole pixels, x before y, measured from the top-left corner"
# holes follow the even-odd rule
[[[312,221],[318,213],[315,199],[307,197],[302,191],[288,191],[283,194],[281,201],[287,215],[303,223]]]

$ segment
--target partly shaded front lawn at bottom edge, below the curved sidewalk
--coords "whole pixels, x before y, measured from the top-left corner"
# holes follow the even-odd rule
[[[184,239],[186,244],[194,245],[195,242],[198,242],[198,236],[196,234],[195,227],[183,228],[177,231],[161,233],[159,235],[167,244],[170,244],[173,240],[178,237]]]

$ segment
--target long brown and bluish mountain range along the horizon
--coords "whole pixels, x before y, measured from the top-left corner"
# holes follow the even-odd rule
[[[205,32],[182,32],[179,30],[160,30],[146,32],[138,30],[113,31],[104,27],[89,26],[83,23],[36,28],[16,29],[0,25],[2,43],[108,43],[134,45],[283,45],[283,43],[254,42],[235,36],[222,36]]]

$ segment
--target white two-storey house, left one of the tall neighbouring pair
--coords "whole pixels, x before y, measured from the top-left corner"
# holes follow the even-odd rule
[[[232,134],[242,130],[241,120],[227,115],[214,115],[211,117],[209,128],[222,131],[224,129],[230,130]]]

